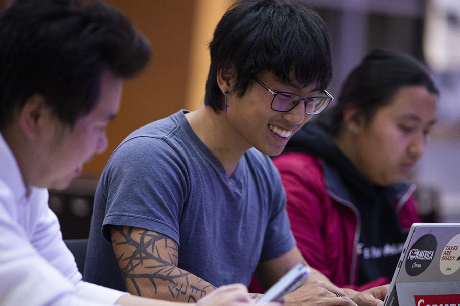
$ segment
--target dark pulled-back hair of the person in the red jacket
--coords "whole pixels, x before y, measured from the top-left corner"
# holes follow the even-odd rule
[[[357,116],[371,122],[377,110],[392,102],[404,86],[423,86],[439,94],[426,67],[412,56],[389,50],[373,50],[354,68],[343,82],[337,104],[328,110],[331,135],[343,125],[343,110],[357,109]]]

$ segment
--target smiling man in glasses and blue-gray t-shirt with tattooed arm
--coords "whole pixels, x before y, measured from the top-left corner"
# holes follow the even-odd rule
[[[268,156],[332,100],[324,22],[303,2],[237,2],[210,53],[204,105],[133,132],[107,163],[87,281],[191,302],[216,286],[248,285],[253,273],[267,289],[303,261]],[[287,303],[353,304],[313,271],[315,279],[325,282],[303,286]]]

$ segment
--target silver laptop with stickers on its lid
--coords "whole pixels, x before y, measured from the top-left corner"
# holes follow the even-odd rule
[[[460,223],[414,223],[384,306],[460,305]]]

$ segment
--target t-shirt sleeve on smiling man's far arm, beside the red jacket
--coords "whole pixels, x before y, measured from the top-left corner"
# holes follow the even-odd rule
[[[261,262],[282,256],[295,246],[295,239],[286,212],[286,194],[281,183],[280,173],[268,157],[265,169],[267,169],[266,180],[268,182],[267,192],[270,195],[268,198],[270,209]]]

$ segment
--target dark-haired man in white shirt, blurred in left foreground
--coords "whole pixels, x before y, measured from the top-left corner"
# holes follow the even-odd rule
[[[19,0],[0,15],[0,46],[0,304],[178,305],[83,282],[48,207],[47,188],[106,149],[146,39],[103,3]],[[197,304],[254,303],[242,285],[216,293]]]

